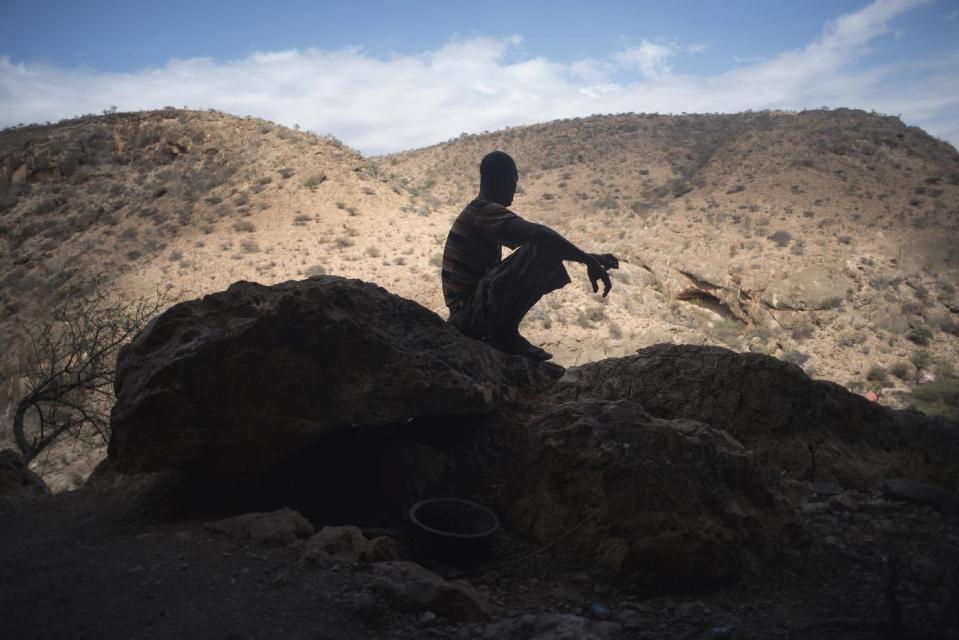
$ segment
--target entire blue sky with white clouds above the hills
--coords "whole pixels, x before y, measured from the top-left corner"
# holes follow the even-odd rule
[[[0,127],[167,105],[366,154],[597,113],[823,106],[959,145],[959,0],[4,0]]]

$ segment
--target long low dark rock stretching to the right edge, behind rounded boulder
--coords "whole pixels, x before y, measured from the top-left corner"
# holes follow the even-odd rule
[[[955,425],[893,411],[761,354],[654,345],[570,369],[543,402],[573,399],[629,399],[658,418],[704,422],[793,474],[853,485],[893,470],[947,486],[959,479]]]

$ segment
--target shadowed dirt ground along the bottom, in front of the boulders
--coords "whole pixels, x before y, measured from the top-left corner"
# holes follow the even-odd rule
[[[371,565],[305,566],[296,545],[260,547],[203,528],[222,511],[182,509],[139,485],[88,487],[0,504],[0,628],[4,638],[44,640],[959,638],[956,515],[878,491],[796,490],[806,495],[808,546],[692,597],[635,593],[502,531],[491,564],[531,557],[468,578],[490,615],[463,622],[395,609],[371,589]],[[402,527],[393,533],[403,538]],[[593,635],[534,636],[535,625],[522,624],[604,618],[604,608],[611,624],[595,624]]]

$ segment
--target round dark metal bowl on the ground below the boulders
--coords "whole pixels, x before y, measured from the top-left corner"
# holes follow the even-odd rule
[[[457,567],[489,560],[499,518],[486,507],[460,498],[431,498],[410,508],[420,552]]]

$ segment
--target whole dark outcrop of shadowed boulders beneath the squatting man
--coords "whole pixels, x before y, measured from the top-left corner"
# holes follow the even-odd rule
[[[337,277],[242,282],[177,305],[119,372],[110,456],[122,472],[272,465],[267,484],[316,525],[395,520],[426,495],[475,498],[646,593],[715,587],[802,547],[785,497],[797,479],[949,484],[959,458],[954,425],[769,356],[661,344],[557,382],[556,367]],[[288,544],[313,532],[291,513],[211,527]],[[390,539],[338,526],[301,544],[308,565],[375,563],[376,590],[401,608],[484,615],[455,583],[377,562],[400,557]]]

